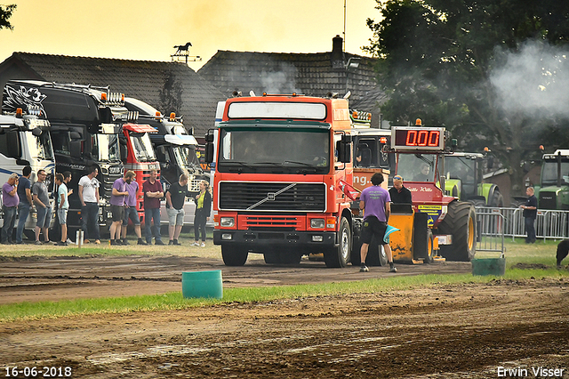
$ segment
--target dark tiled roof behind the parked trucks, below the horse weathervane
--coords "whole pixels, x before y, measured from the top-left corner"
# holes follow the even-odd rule
[[[71,57],[65,55],[14,52],[0,64],[0,84],[10,79],[38,79],[57,83],[110,86],[111,91],[145,101],[169,114],[175,109],[162,109],[160,93],[171,78],[181,90],[178,112],[184,124],[193,127],[201,137],[215,120],[218,101],[227,96],[184,63],[149,60],[116,60]]]

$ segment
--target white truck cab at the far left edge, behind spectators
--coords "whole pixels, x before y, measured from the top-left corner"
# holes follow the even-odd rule
[[[11,93],[4,91],[4,99],[11,99]],[[3,107],[4,108],[4,107]],[[42,118],[41,112],[30,106],[24,112],[21,108],[14,112],[5,107],[4,115],[0,116],[0,182],[8,180],[12,173],[21,175],[22,168],[31,166],[30,181],[34,183],[37,172],[47,173],[47,187],[53,190],[53,173],[55,160],[53,157],[50,123]],[[36,210],[28,215],[24,233],[28,238],[34,237],[36,227]]]

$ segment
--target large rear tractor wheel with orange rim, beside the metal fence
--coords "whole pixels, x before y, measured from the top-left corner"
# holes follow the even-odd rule
[[[477,214],[470,203],[453,201],[438,226],[440,234],[452,234],[453,245],[440,246],[441,255],[448,261],[469,262],[476,254]]]

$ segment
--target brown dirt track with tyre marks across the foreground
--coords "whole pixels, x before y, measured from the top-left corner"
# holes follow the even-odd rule
[[[10,302],[4,299],[179,291],[180,272],[196,267],[222,270],[224,286],[388,275],[328,270],[322,262],[276,268],[259,257],[236,269],[176,256],[8,259],[0,294]],[[469,271],[455,262],[398,267],[396,275]],[[18,366],[71,367],[72,377],[84,378],[493,378],[499,367],[525,368],[528,377],[545,367],[564,369],[549,377],[569,378],[568,306],[567,279],[536,278],[15,321],[0,324],[0,375]]]

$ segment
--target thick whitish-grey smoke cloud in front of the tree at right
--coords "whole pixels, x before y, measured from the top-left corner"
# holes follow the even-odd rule
[[[517,52],[497,49],[490,82],[507,115],[569,116],[569,50],[529,41]]]

